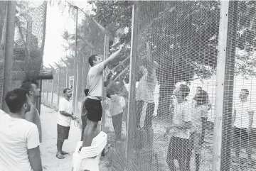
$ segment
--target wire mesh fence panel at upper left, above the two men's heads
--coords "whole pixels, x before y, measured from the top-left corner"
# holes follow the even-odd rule
[[[18,1],[14,33],[12,89],[23,81],[36,81],[41,70],[46,32],[47,2]]]

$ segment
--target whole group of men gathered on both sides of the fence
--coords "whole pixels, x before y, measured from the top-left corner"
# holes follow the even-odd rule
[[[116,59],[123,46],[117,52],[102,61],[98,55],[89,57],[91,65],[88,72],[87,89],[85,89],[85,102],[82,108],[82,147],[89,147],[95,136],[97,123],[102,118],[102,89],[110,83],[112,74],[107,75],[104,81],[103,72],[107,65]],[[156,87],[156,70],[159,64],[146,55],[139,63],[142,77],[136,90],[135,104],[137,112],[136,128],[148,130],[152,128],[154,112],[154,90]],[[170,170],[176,170],[174,159],[178,160],[180,170],[190,170],[192,150],[195,151],[196,170],[201,163],[201,149],[205,137],[208,110],[211,108],[208,93],[198,87],[193,102],[188,101],[190,92],[186,84],[181,84],[174,89],[174,114],[166,132],[171,133],[166,162]],[[63,143],[68,139],[70,123],[76,117],[73,114],[73,105],[70,101],[72,92],[63,90],[64,98],[60,100],[57,119],[57,153],[56,158],[63,159],[68,152],[63,151]],[[252,158],[252,148],[256,145],[256,119],[254,111],[247,99],[249,91],[242,89],[240,101],[234,105],[233,110],[233,146],[235,155],[239,160],[240,149],[245,146],[248,158]],[[42,142],[41,121],[36,109],[36,99],[41,96],[40,89],[33,82],[22,84],[20,89],[14,89],[5,96],[9,107],[9,114],[0,113],[0,170],[42,170],[41,153],[39,145]],[[116,140],[122,140],[122,121],[127,119],[128,92],[124,82],[119,79],[119,84],[107,89],[110,114]],[[105,101],[103,101],[105,102]],[[146,103],[146,116],[144,125],[140,126],[142,106]],[[82,148],[81,147],[81,148]],[[80,150],[81,150],[80,148]]]

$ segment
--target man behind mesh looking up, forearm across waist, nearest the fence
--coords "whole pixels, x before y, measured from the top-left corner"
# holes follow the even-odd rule
[[[167,128],[167,132],[173,129],[169,148],[167,152],[167,163],[171,171],[176,170],[174,159],[178,160],[181,171],[190,170],[191,140],[190,129],[192,126],[191,104],[186,97],[190,89],[185,84],[181,84],[174,90],[176,101],[174,102],[174,124]]]

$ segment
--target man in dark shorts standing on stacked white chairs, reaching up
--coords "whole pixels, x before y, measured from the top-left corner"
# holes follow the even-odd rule
[[[102,88],[103,88],[103,71],[114,59],[117,58],[121,52],[123,45],[117,52],[110,55],[107,60],[102,61],[98,55],[91,55],[88,62],[91,66],[88,72],[89,89],[88,97],[85,100],[85,107],[87,109],[87,126],[85,127],[84,136],[82,140],[82,147],[88,147],[92,144],[92,139],[97,128],[97,123],[102,118]],[[81,148],[80,148],[81,149]]]

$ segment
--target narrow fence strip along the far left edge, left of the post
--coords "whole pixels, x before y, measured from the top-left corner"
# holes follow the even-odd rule
[[[0,1],[0,106],[2,106],[4,86],[4,48],[6,41],[7,1]]]

